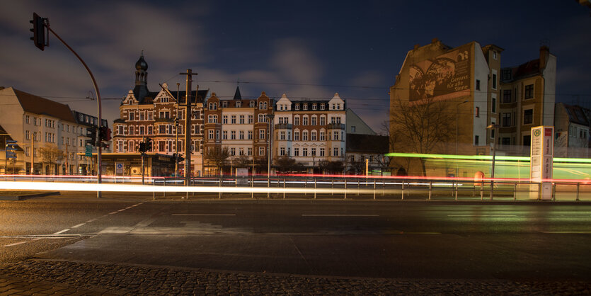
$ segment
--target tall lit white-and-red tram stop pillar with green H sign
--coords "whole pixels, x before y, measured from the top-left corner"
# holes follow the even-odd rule
[[[532,151],[529,178],[539,185],[529,190],[530,200],[551,200],[554,127],[532,127]]]

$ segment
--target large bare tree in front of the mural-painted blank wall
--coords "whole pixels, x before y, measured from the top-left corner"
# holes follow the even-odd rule
[[[454,113],[448,106],[447,101],[433,98],[394,100],[390,113],[391,151],[430,154],[444,150],[455,135]],[[420,159],[420,164],[425,176],[425,161]]]

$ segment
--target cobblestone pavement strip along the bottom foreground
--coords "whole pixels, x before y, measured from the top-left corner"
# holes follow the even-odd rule
[[[22,291],[22,292],[21,292]],[[29,259],[0,265],[0,295],[589,295],[571,281],[338,278]]]

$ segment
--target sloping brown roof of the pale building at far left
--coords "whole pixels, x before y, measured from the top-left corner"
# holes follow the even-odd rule
[[[16,98],[18,98],[18,102],[21,103],[21,107],[25,112],[47,115],[71,123],[76,123],[76,119],[74,118],[74,115],[72,115],[69,106],[48,100],[47,98],[41,98],[40,96],[25,93],[18,89],[11,89]]]

